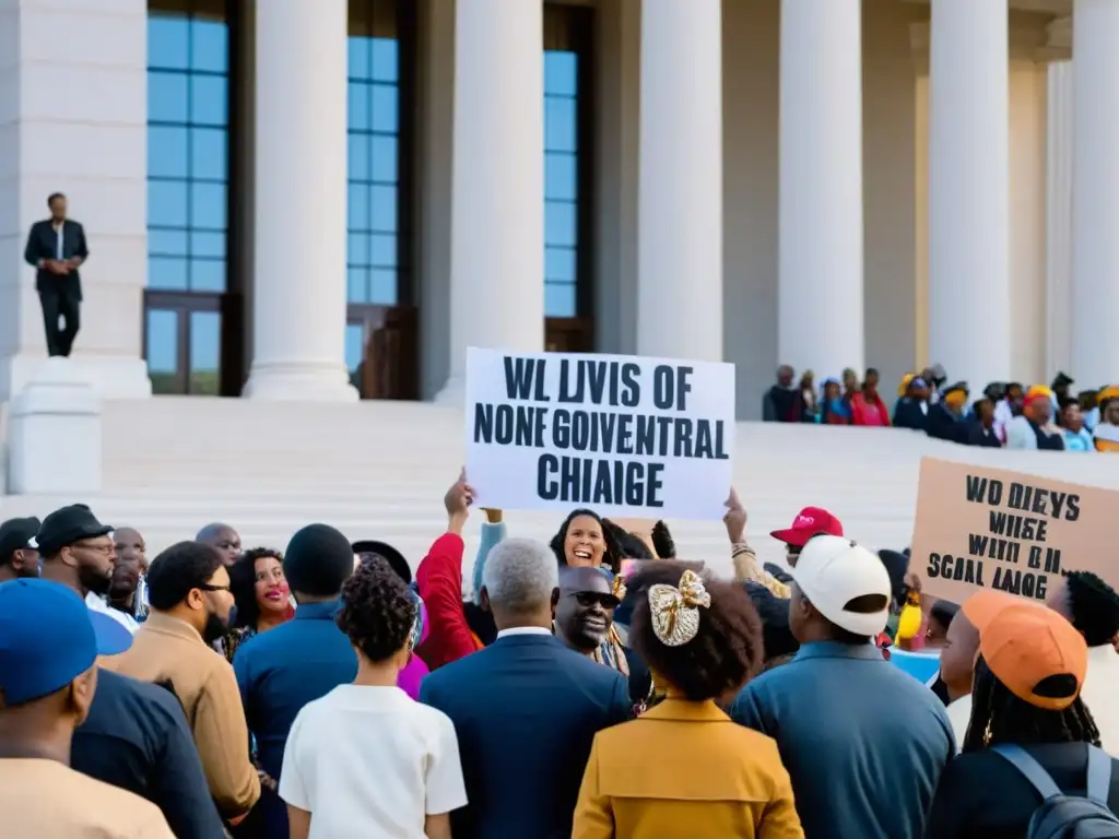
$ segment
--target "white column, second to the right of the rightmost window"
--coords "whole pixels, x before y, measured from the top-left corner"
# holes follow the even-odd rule
[[[780,360],[863,368],[862,0],[781,3]]]

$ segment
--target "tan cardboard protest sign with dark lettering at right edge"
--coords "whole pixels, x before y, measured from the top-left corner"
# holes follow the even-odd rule
[[[922,590],[956,603],[980,588],[1044,601],[1062,571],[1116,585],[1119,492],[925,458],[912,565]]]

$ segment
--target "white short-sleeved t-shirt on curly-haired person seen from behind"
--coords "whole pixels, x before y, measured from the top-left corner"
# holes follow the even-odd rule
[[[311,813],[310,839],[425,839],[426,816],[467,803],[454,724],[399,688],[340,685],[295,717],[280,798]]]

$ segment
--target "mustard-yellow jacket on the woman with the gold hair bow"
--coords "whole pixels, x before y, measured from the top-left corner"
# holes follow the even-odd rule
[[[573,839],[730,836],[803,839],[771,737],[684,699],[595,735]]]

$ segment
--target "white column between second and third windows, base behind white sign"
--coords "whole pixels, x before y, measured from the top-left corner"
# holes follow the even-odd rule
[[[458,0],[451,196],[451,375],[467,347],[544,346],[544,4]]]

